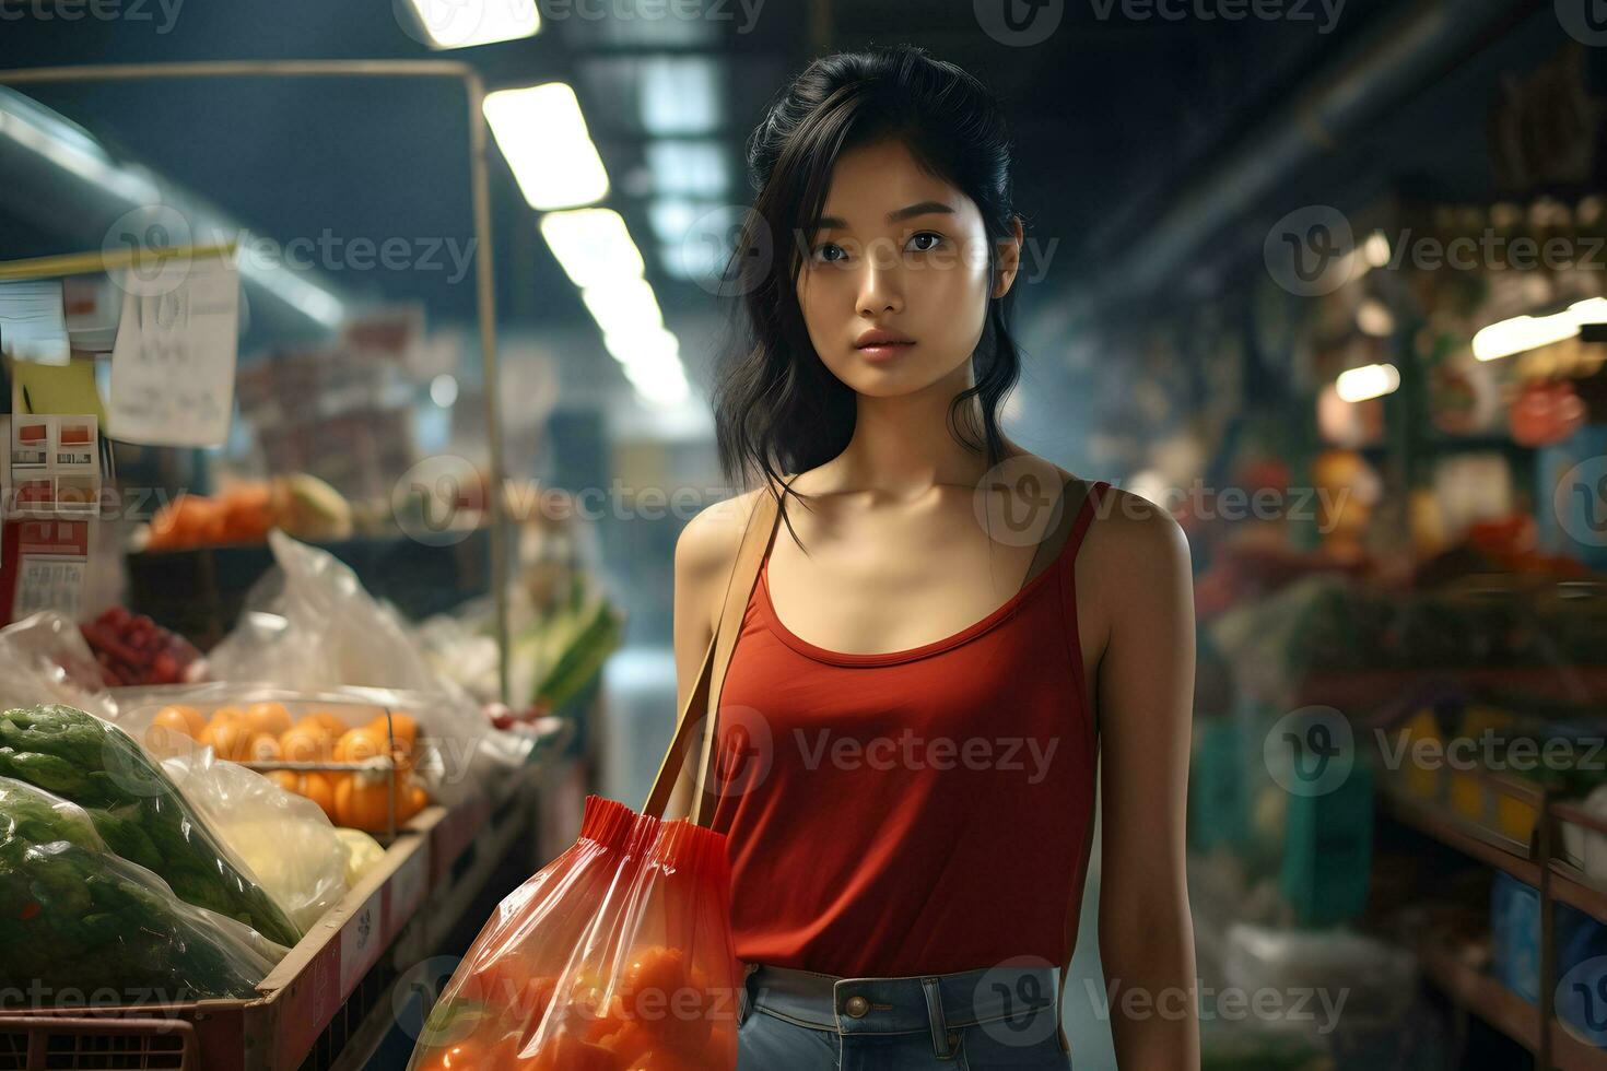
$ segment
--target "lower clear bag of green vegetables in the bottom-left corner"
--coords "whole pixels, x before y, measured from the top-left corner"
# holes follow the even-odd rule
[[[0,904],[0,991],[37,1008],[249,997],[288,951],[183,902],[111,851],[84,808],[10,777]]]

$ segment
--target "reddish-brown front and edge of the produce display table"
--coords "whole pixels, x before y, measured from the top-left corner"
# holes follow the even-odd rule
[[[257,997],[26,1015],[0,1008],[0,1071],[360,1068],[394,1023],[397,976],[440,946],[509,853],[529,846],[542,780],[566,774],[564,766],[527,769],[493,800],[418,814],[262,979]]]

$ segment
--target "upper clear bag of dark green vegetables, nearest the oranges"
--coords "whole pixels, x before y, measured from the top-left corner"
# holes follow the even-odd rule
[[[72,707],[0,713],[0,777],[84,808],[108,848],[156,872],[188,904],[236,918],[275,944],[301,930],[127,732]]]

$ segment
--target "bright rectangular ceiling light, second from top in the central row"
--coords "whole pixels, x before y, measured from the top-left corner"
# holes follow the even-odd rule
[[[562,82],[492,93],[485,120],[532,209],[569,209],[607,196],[603,157],[575,92]]]

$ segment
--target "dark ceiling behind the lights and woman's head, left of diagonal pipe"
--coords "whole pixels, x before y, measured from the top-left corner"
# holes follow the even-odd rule
[[[625,215],[649,281],[673,315],[707,308],[709,295],[673,278],[654,255],[643,72],[665,55],[712,63],[725,111],[707,136],[723,149],[731,201],[747,196],[746,132],[812,55],[914,42],[959,63],[1006,101],[1019,146],[1019,207],[1045,241],[1059,241],[1054,275],[1072,283],[1143,233],[1154,210],[1239,133],[1400,6],[1347,0],[1324,29],[1319,0],[1286,5],[1308,11],[1310,21],[1165,19],[1147,2],[1051,0],[1064,16],[1057,32],[1040,45],[1006,47],[979,27],[985,3],[770,0],[747,26],[734,0],[704,5],[726,11],[725,21],[619,18],[677,5],[609,0],[562,10],[607,10],[615,18],[548,18],[529,40],[434,53],[403,31],[399,10],[407,0],[206,0],[183,3],[170,26],[159,0],[121,0],[127,18],[116,21],[0,22],[0,66],[434,56],[476,64],[493,88],[567,80],[609,169],[607,204]],[[1184,0],[1167,5],[1181,8]],[[135,19],[135,10],[146,18]],[[466,109],[461,92],[444,85],[264,79],[51,85],[29,87],[29,95],[259,234],[466,242],[471,233]],[[493,181],[505,316],[583,323],[579,295],[495,154]],[[59,220],[14,207],[0,209],[0,259],[61,250]],[[333,283],[355,294],[424,300],[437,320],[472,315],[472,278],[453,281],[445,270],[350,276]],[[1059,292],[1046,287],[1035,300]]]

